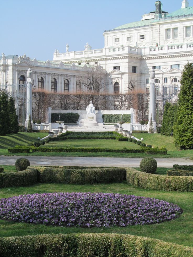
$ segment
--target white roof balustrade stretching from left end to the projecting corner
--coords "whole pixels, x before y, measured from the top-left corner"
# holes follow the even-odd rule
[[[141,48],[132,47],[132,46],[117,46],[117,47],[108,47],[95,50],[85,50],[69,53],[54,53],[53,61],[62,61],[68,59],[79,59],[79,58],[95,58],[103,56],[111,56],[118,54],[138,54],[141,55]]]

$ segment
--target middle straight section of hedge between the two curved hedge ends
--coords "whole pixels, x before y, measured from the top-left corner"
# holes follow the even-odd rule
[[[95,184],[126,180],[126,168],[36,167],[40,183]]]

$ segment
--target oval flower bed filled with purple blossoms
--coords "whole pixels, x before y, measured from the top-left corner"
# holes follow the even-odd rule
[[[109,227],[172,220],[182,209],[172,203],[111,193],[45,193],[0,200],[0,218],[55,226]]]

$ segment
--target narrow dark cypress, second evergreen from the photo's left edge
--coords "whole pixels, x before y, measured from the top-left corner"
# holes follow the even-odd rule
[[[19,132],[18,116],[16,115],[15,101],[14,101],[13,97],[9,98],[8,112],[9,112],[11,133],[18,133]]]

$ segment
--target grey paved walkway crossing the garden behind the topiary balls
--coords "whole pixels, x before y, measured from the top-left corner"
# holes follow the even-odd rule
[[[31,165],[60,165],[60,166],[114,166],[139,167],[142,158],[114,157],[46,157],[46,156],[0,156],[0,165],[15,165],[18,158],[27,158]],[[193,160],[184,158],[155,158],[158,167],[173,167],[173,164],[193,165]]]

